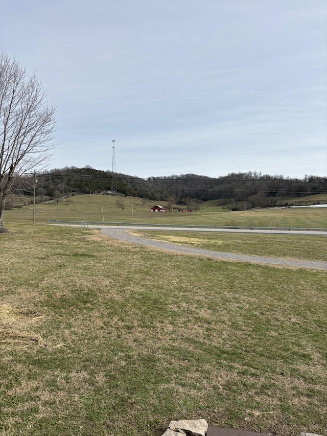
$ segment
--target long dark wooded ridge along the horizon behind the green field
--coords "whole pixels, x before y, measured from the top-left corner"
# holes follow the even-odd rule
[[[108,193],[112,181],[117,191],[124,195],[156,201],[173,197],[180,204],[185,204],[186,198],[197,202],[221,199],[226,203],[231,200],[245,201],[249,207],[256,207],[279,204],[287,197],[327,192],[327,178],[319,176],[294,179],[247,172],[229,173],[217,178],[181,174],[142,179],[91,167],[65,167],[39,174],[37,195],[56,198],[77,193]]]

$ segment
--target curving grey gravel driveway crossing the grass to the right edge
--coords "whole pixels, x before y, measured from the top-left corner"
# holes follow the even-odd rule
[[[209,258],[221,259],[221,260],[238,261],[238,262],[251,262],[251,263],[261,263],[267,265],[281,265],[281,266],[291,266],[291,267],[301,267],[301,268],[318,268],[318,269],[327,270],[327,262],[237,255],[233,253],[225,253],[223,251],[212,251],[212,250],[205,250],[201,248],[186,247],[183,245],[171,244],[169,242],[155,241],[151,239],[142,238],[140,236],[133,236],[130,235],[127,230],[123,230],[122,228],[103,228],[102,233],[104,235],[110,236],[111,238],[118,239],[120,241],[126,241],[134,244],[146,245],[148,247],[174,251],[175,253],[185,253],[185,254],[199,255]]]

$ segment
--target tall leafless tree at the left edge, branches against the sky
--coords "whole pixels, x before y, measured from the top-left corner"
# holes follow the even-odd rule
[[[17,179],[35,168],[44,169],[54,147],[56,108],[35,74],[0,53],[0,233],[6,198]]]

